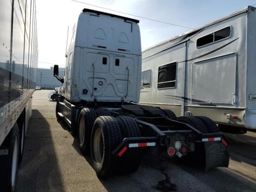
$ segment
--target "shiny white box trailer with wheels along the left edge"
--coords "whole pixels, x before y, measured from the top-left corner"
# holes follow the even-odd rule
[[[0,191],[14,191],[38,60],[35,0],[0,1]]]

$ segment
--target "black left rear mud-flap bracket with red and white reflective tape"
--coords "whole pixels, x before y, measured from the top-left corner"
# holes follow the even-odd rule
[[[124,138],[124,140],[113,150],[112,155],[122,156],[128,148],[156,146],[158,137]]]

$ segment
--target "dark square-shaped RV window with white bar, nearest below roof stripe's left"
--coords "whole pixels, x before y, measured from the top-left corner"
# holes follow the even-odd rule
[[[177,62],[160,66],[158,68],[157,88],[172,88],[176,86]]]

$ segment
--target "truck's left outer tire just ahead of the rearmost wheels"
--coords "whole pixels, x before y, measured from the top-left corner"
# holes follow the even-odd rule
[[[78,143],[82,154],[90,154],[91,133],[96,112],[93,108],[83,108],[78,117]]]

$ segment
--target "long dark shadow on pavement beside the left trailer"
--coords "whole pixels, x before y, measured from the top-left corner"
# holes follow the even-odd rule
[[[38,110],[28,123],[16,191],[64,191],[50,125]]]

